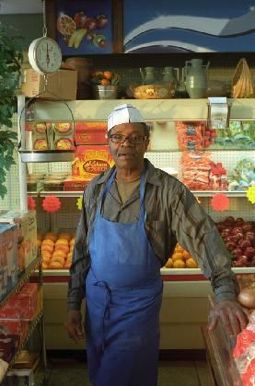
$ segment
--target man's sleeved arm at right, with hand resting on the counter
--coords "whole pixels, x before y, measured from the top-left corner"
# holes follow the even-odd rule
[[[193,194],[179,186],[173,205],[173,230],[178,242],[198,261],[211,281],[216,306],[209,316],[209,328],[218,320],[228,326],[230,335],[236,335],[247,324],[247,316],[237,302],[239,286],[231,270],[232,256],[227,251],[213,220],[198,204]]]

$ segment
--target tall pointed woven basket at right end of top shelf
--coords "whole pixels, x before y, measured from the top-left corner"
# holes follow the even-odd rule
[[[253,79],[244,58],[240,59],[232,80],[233,98],[251,98],[254,96]]]

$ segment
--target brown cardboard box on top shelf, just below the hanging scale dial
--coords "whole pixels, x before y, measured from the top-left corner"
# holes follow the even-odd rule
[[[27,97],[75,100],[77,94],[77,71],[58,70],[48,74],[47,90],[44,91],[43,76],[31,68],[24,70],[21,92]]]

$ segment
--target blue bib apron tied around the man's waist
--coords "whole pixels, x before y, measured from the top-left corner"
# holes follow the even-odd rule
[[[86,337],[94,386],[156,386],[160,261],[147,238],[145,181],[140,183],[138,221],[105,219],[102,207],[115,178],[100,198],[89,240],[91,267],[86,277]]]

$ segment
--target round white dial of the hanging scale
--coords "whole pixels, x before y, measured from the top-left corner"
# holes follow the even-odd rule
[[[40,74],[59,70],[62,53],[58,43],[48,37],[35,39],[29,46],[28,59],[32,68]]]

